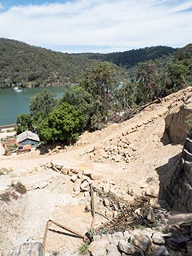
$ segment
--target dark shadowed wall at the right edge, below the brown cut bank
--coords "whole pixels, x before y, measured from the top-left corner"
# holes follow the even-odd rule
[[[192,212],[192,130],[186,138],[182,158],[163,193],[174,210]]]

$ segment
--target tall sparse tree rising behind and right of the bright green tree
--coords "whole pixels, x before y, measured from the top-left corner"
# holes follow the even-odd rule
[[[87,70],[80,86],[90,95],[89,130],[97,130],[105,118],[113,112],[114,65],[101,62]]]

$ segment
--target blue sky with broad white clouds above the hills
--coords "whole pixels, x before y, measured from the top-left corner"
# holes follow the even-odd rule
[[[0,38],[68,53],[192,42],[192,0],[0,0]]]

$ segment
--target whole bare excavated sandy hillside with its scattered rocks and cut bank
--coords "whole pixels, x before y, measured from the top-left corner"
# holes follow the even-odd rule
[[[126,122],[112,124],[94,133],[86,132],[74,146],[57,147],[43,155],[34,150],[23,155],[1,156],[1,170],[7,170],[0,176],[1,194],[11,182],[20,181],[27,190],[17,200],[2,202],[2,252],[6,253],[26,241],[42,242],[48,219],[82,234],[90,229],[91,214],[85,210],[86,207],[90,209],[90,194],[87,190],[78,193],[74,190],[75,178],[83,181],[82,171],[92,174],[93,186],[104,192],[110,190],[126,198],[127,202],[133,202],[134,197],[142,193],[148,194],[151,205],[159,210],[164,222],[164,211],[170,216],[170,221],[171,215],[175,217],[174,225],[181,221],[179,215],[168,214],[158,204],[161,201],[158,192],[159,186],[167,182],[171,170],[177,166],[189,128],[185,124],[185,114],[191,112],[191,96],[191,87],[171,94],[161,102],[146,106]],[[90,182],[90,178],[87,180]],[[109,202],[105,201],[103,208],[101,199],[95,196],[95,200],[96,211],[108,218],[117,214]],[[141,208],[137,210],[141,211]],[[106,218],[95,215],[94,228],[103,222]],[[183,222],[187,222],[186,215]],[[167,228],[166,222],[164,224]],[[162,227],[156,228],[159,231]],[[146,227],[141,226],[141,229],[146,230]],[[149,227],[147,232],[150,232]],[[79,255],[77,250],[81,245],[81,239],[67,236],[63,230],[51,226],[45,251],[49,256],[56,251],[61,255]],[[176,253],[172,251],[170,255]]]

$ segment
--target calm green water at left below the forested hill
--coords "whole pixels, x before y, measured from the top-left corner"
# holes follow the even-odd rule
[[[28,114],[30,98],[47,88],[24,89],[21,92],[14,89],[0,89],[0,126],[16,122],[18,114]],[[63,94],[62,87],[50,87],[56,98]]]

